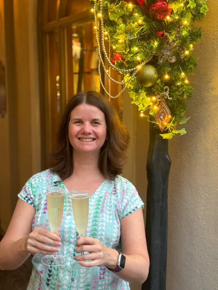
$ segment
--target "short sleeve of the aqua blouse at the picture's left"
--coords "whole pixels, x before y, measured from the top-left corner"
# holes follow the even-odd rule
[[[35,197],[36,197],[36,185],[35,183],[35,178],[32,176],[24,185],[22,188],[21,192],[18,193],[18,197],[27,202],[28,204],[31,204],[34,206],[36,210],[36,204],[35,204]]]

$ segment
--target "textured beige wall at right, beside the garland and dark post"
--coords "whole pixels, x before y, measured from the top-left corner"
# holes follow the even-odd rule
[[[167,289],[218,289],[218,26],[217,1],[208,1],[187,134],[169,141]]]

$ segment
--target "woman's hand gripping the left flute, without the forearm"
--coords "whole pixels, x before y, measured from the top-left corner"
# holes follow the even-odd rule
[[[53,254],[60,251],[61,246],[59,234],[42,228],[35,228],[31,233],[24,237],[22,251],[38,254]]]

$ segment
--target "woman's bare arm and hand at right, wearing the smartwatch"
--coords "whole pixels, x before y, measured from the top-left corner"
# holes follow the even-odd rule
[[[98,239],[84,237],[77,241],[76,252],[88,251],[90,254],[75,256],[80,264],[86,267],[117,267],[119,253],[115,249],[105,247]],[[125,268],[116,273],[120,278],[132,283],[143,283],[148,276],[149,256],[146,245],[142,209],[125,216],[121,220],[121,245],[126,256]],[[80,247],[81,246],[81,247]],[[92,260],[90,262],[82,261]]]

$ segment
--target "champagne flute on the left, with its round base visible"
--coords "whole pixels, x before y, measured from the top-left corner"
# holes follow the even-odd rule
[[[58,233],[64,209],[65,189],[60,186],[49,186],[47,188],[47,207],[49,225],[52,233]],[[64,255],[56,254],[45,255],[42,263],[47,266],[60,266],[66,262]]]

